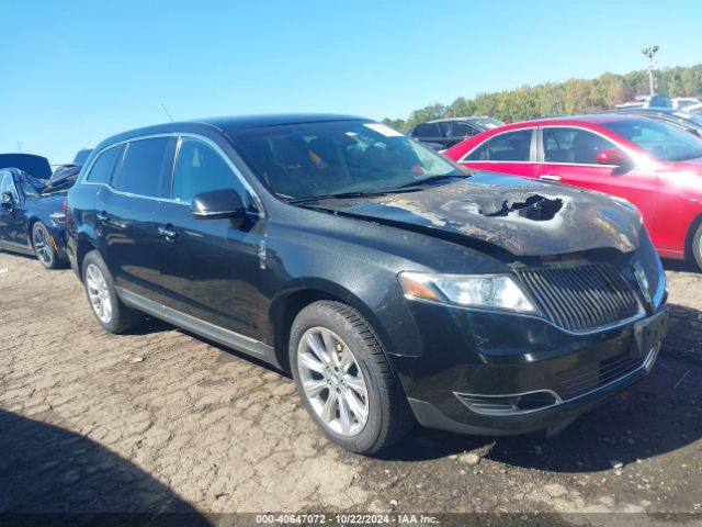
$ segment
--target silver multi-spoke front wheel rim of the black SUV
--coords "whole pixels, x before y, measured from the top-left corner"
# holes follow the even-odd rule
[[[346,437],[363,430],[367,388],[353,352],[336,333],[307,329],[297,346],[297,371],[305,397],[327,428]]]

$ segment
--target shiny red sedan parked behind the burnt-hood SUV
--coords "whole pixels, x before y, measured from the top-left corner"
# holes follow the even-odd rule
[[[647,117],[542,119],[444,153],[467,167],[585,187],[634,203],[664,258],[702,268],[702,139]]]

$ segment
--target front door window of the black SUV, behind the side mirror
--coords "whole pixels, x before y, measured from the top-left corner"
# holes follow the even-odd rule
[[[235,189],[248,204],[244,183],[222,155],[200,139],[183,137],[173,170],[173,200],[190,203],[201,192],[222,189]]]

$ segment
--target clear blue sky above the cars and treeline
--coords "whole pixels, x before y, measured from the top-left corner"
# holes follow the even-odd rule
[[[0,152],[268,112],[406,117],[524,83],[702,61],[699,0],[0,0]]]

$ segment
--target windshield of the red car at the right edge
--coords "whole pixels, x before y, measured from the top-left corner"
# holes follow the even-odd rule
[[[627,119],[602,124],[664,161],[702,157],[700,137],[660,121]]]

